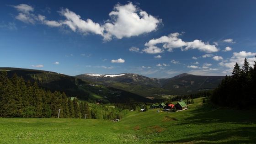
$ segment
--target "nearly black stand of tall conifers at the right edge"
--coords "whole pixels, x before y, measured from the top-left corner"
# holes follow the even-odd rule
[[[211,101],[223,107],[255,107],[256,62],[254,63],[253,68],[246,58],[242,68],[236,63],[232,75],[226,76],[213,91]]]

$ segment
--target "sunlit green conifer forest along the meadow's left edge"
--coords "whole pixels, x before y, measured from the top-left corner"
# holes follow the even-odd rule
[[[71,99],[64,92],[46,91],[36,82],[25,82],[16,74],[8,78],[5,70],[0,71],[0,117],[115,119],[125,113],[127,111],[117,107],[91,104],[76,97]]]

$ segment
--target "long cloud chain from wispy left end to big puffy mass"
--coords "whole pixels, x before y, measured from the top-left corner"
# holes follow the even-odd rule
[[[109,13],[110,19],[103,22],[102,25],[89,18],[83,19],[80,15],[67,8],[59,11],[59,14],[64,16],[64,20],[49,21],[43,15],[34,14],[34,8],[30,5],[20,4],[12,5],[12,7],[20,12],[16,19],[25,23],[35,24],[41,22],[49,27],[67,26],[73,32],[101,35],[104,41],[110,41],[113,37],[121,39],[152,32],[161,23],[161,19],[142,11],[132,2],[126,5],[115,5],[113,11]]]

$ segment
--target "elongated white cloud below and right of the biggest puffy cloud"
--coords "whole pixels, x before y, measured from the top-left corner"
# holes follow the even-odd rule
[[[204,43],[201,40],[196,39],[192,42],[184,42],[181,38],[179,38],[181,34],[182,33],[176,32],[171,33],[168,36],[151,39],[149,40],[149,42],[144,44],[146,48],[144,48],[142,51],[144,51],[145,53],[162,53],[164,52],[164,49],[172,52],[174,48],[181,48],[181,50],[198,49],[199,51],[203,51],[206,53],[213,53],[219,51],[219,49],[216,48],[215,45]],[[163,44],[162,48],[157,47],[157,44]]]

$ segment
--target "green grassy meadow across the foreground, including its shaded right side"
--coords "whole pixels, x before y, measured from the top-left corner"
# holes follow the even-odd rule
[[[0,143],[255,144],[256,112],[211,108],[194,100],[182,112],[129,112],[97,119],[0,118]]]

